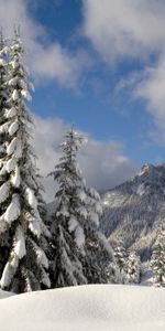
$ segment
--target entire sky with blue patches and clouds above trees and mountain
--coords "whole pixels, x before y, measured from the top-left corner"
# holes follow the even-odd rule
[[[143,163],[164,162],[163,0],[0,0],[0,20],[7,35],[21,25],[45,172],[42,145],[53,153],[51,168],[72,124],[89,136],[81,163],[97,189],[122,182]],[[54,138],[46,138],[51,129]],[[89,168],[96,168],[92,180]],[[98,171],[107,186],[97,182]]]

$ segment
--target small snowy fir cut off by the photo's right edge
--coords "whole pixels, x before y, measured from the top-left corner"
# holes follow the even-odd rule
[[[153,282],[156,286],[165,286],[165,231],[161,229],[153,247],[151,257]]]

